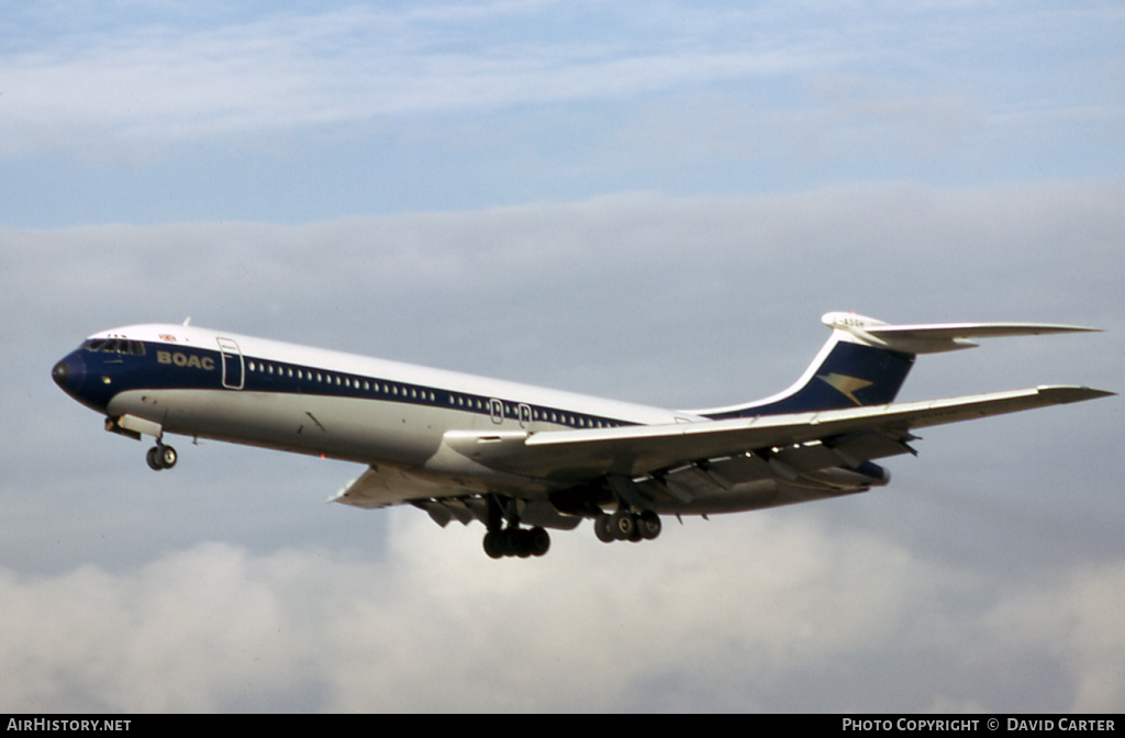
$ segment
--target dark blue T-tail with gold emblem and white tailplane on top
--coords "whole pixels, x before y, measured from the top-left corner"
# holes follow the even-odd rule
[[[1097,330],[1043,323],[888,325],[853,313],[827,313],[821,321],[832,334],[792,387],[755,403],[693,412],[724,420],[883,405],[894,400],[919,353],[971,349],[972,339]]]

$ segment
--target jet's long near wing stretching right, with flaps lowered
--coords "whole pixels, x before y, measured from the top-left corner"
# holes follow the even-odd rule
[[[771,472],[785,477],[802,468],[855,467],[868,459],[911,452],[906,443],[916,438],[910,433],[915,429],[1113,394],[1087,387],[1035,387],[674,425],[540,433],[451,431],[446,443],[496,471],[576,484],[602,476],[633,478],[709,460],[741,459],[748,451],[758,452],[759,461],[772,465]]]

